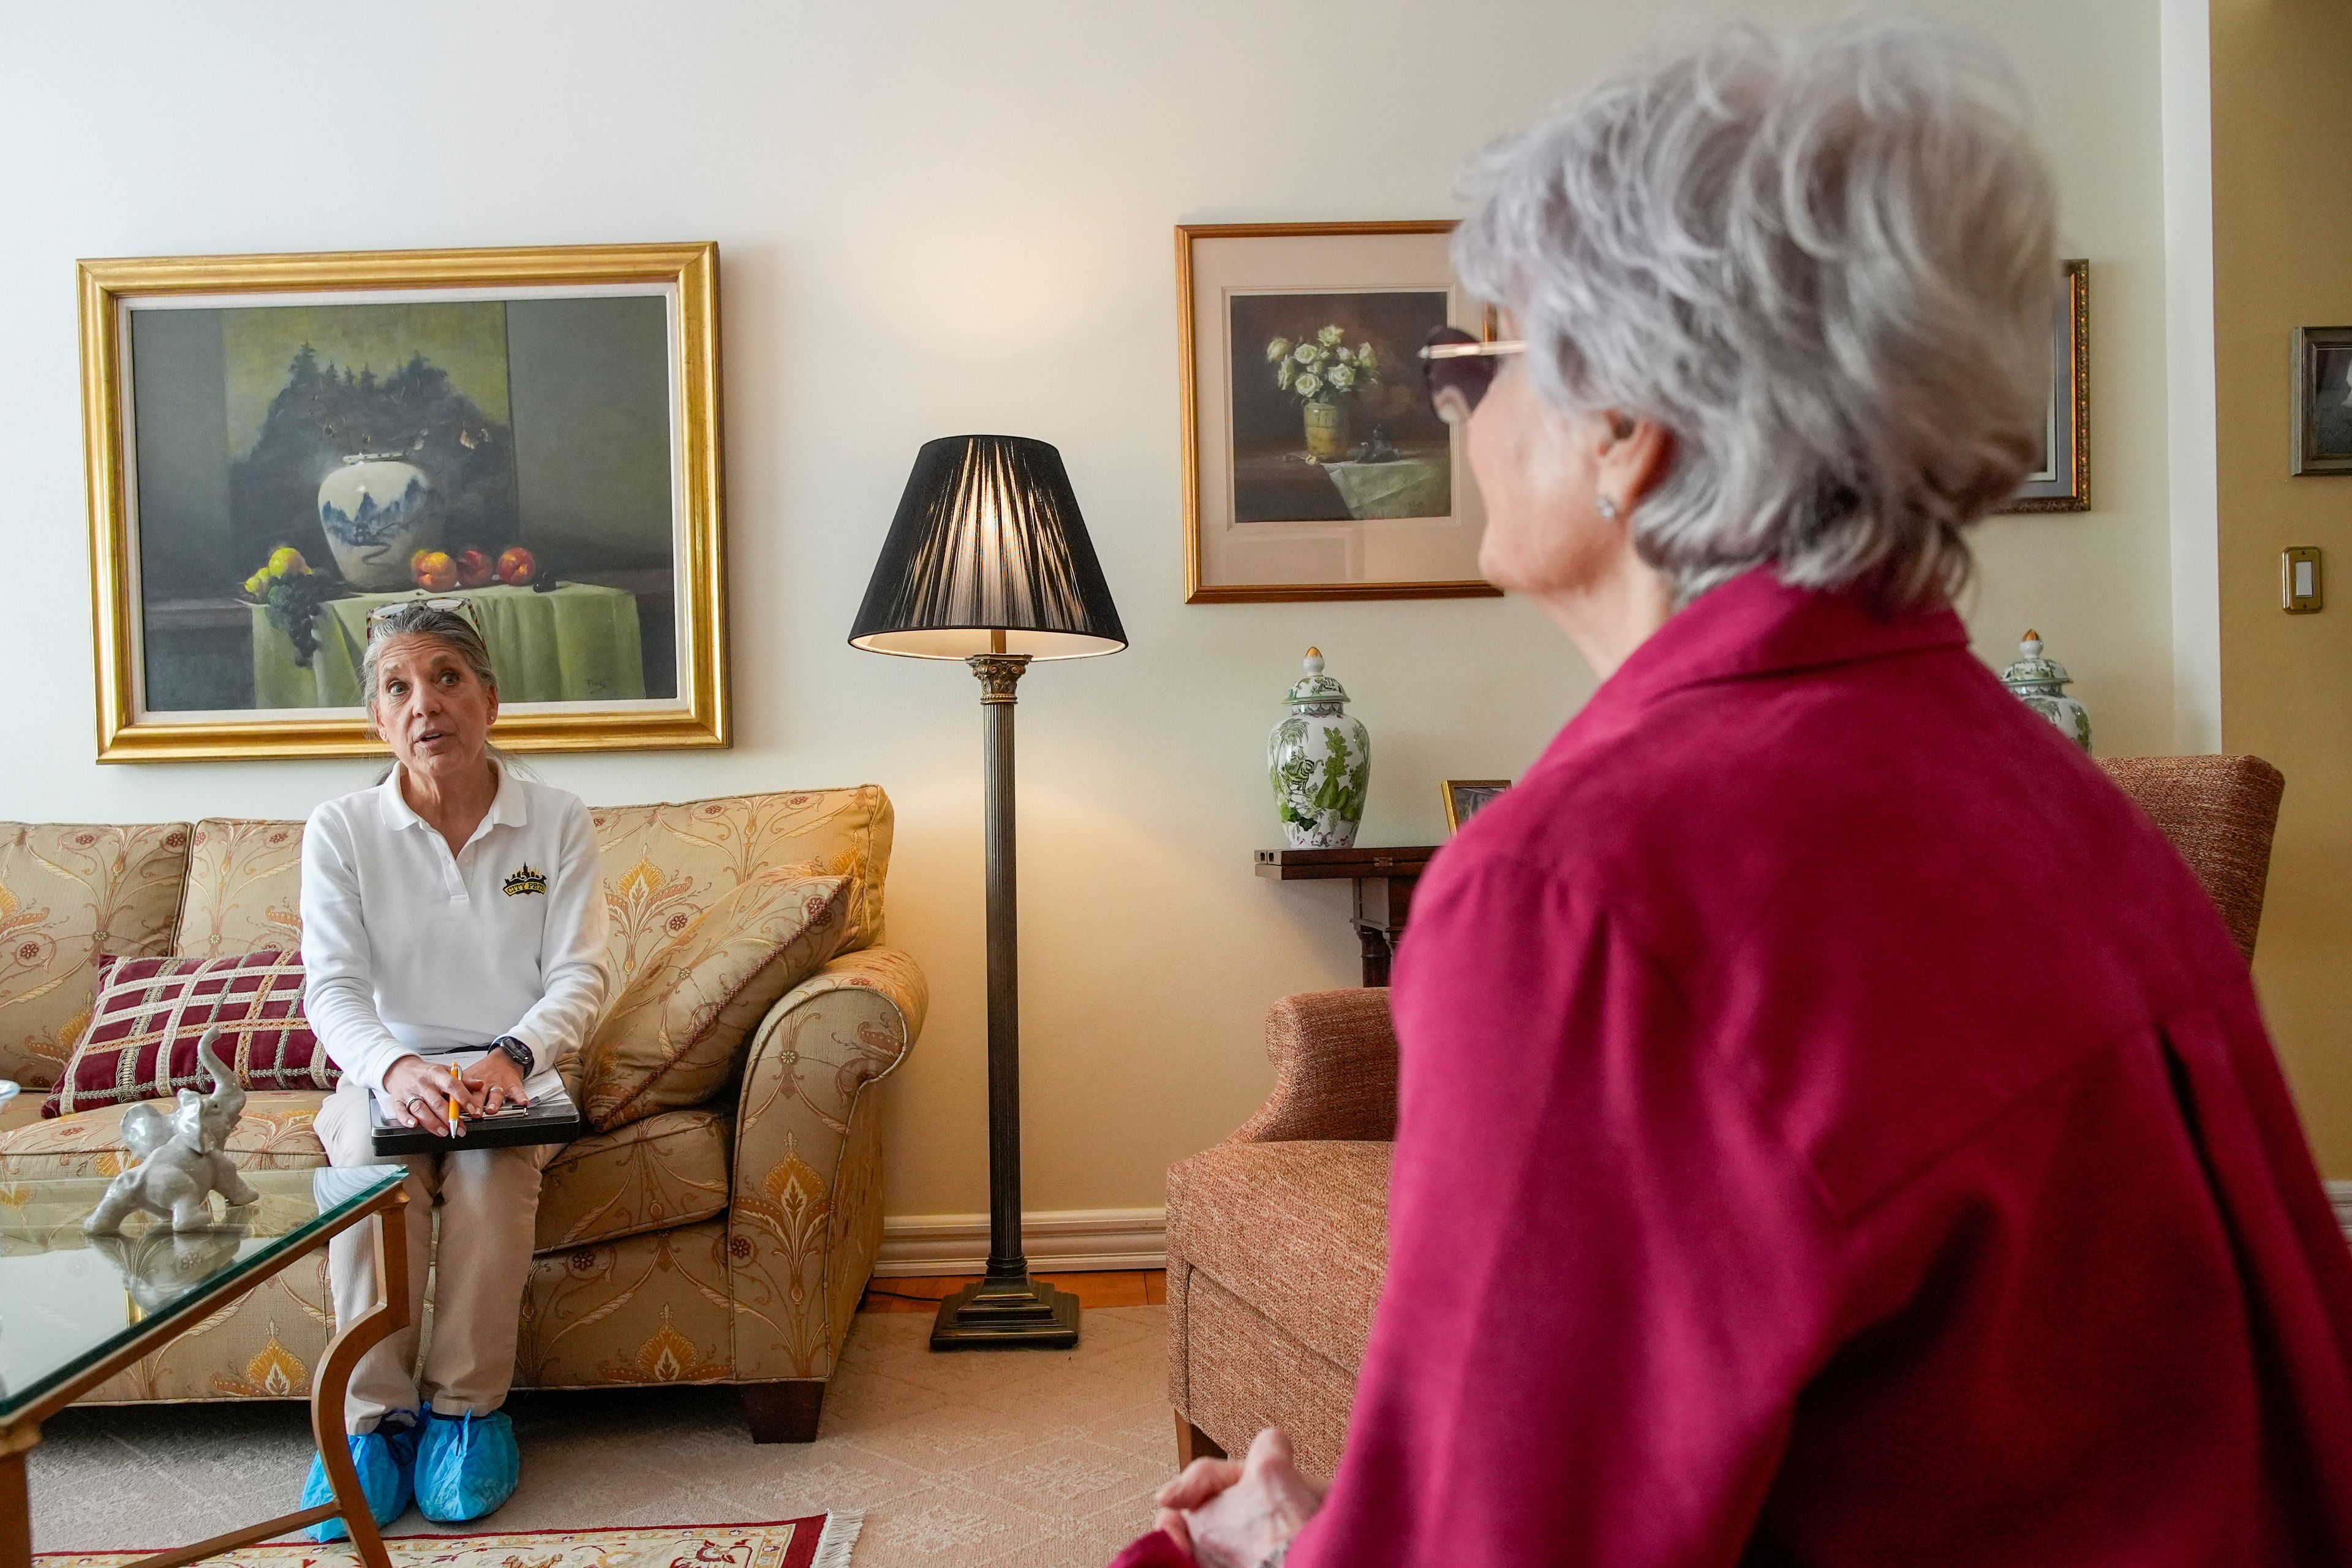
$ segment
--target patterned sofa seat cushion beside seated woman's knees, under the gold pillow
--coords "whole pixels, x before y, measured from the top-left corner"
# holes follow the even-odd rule
[[[727,1213],[734,1117],[670,1110],[590,1133],[548,1161],[536,1251],[595,1246]]]

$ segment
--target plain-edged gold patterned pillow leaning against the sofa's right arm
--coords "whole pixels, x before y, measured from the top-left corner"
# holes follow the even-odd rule
[[[647,954],[588,1041],[588,1124],[609,1133],[715,1095],[767,1009],[840,950],[851,886],[762,872]]]

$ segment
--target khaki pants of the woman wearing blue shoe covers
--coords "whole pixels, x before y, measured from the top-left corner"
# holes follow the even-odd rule
[[[426,1403],[442,1415],[489,1415],[506,1403],[515,1380],[539,1173],[560,1145],[468,1150],[459,1140],[447,1154],[379,1157],[369,1145],[367,1091],[348,1077],[327,1095],[315,1131],[332,1166],[409,1168],[409,1326],[360,1356],[343,1399],[343,1427],[374,1432],[386,1413]],[[426,1312],[435,1211],[440,1272],[433,1279],[433,1342],[419,1375],[416,1333]],[[376,1220],[327,1241],[327,1279],[336,1324],[376,1305]]]

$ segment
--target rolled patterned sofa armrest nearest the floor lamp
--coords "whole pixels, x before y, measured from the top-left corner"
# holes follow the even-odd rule
[[[927,1004],[913,957],[863,947],[788,990],[753,1034],[727,1204],[741,1382],[833,1371],[882,1246],[870,1091],[906,1060]]]

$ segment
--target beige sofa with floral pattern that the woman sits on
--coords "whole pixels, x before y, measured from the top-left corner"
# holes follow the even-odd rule
[[[593,813],[614,992],[746,877],[816,860],[854,875],[844,947],[753,1030],[736,1086],[569,1145],[539,1204],[520,1387],[724,1382],[757,1441],[807,1441],[882,1241],[880,1095],[922,1030],[915,961],[882,945],[891,809],[875,785]],[[120,1107],[40,1119],[96,985],[96,954],[292,947],[301,823],[0,823],[0,1204],[12,1182],[111,1175]],[[325,1164],[318,1093],[256,1093],[247,1166]],[[92,1399],[289,1399],[332,1333],[325,1262],[101,1385]]]

